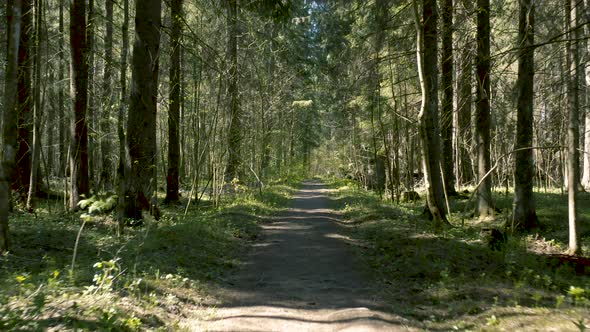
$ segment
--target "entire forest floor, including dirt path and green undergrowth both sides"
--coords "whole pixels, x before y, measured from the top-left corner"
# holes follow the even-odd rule
[[[502,212],[485,221],[452,198],[454,227],[434,234],[423,199],[324,183],[238,190],[219,208],[184,198],[121,237],[108,214],[63,212],[60,200],[17,209],[0,257],[0,331],[590,327],[590,269],[550,256],[567,248],[566,195],[537,192],[544,227],[491,250],[482,230],[508,218],[509,193],[495,193]],[[586,253],[589,203],[583,193]]]

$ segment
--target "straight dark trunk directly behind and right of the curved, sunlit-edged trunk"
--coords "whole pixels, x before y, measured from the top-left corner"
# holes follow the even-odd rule
[[[442,169],[447,194],[455,195],[453,173],[453,0],[442,4]]]

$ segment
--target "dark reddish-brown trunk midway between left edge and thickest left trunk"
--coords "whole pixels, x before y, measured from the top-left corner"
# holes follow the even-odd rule
[[[88,183],[88,59],[86,58],[86,2],[72,0],[70,5],[70,43],[72,47],[72,98],[74,116],[70,144],[70,209],[75,209],[80,195],[89,192]]]

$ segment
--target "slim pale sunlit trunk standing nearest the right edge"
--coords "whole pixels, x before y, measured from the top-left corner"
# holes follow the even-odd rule
[[[568,189],[568,215],[569,215],[569,253],[577,254],[581,251],[580,233],[578,231],[577,195],[579,184],[579,56],[578,38],[578,0],[565,0],[565,31],[566,41],[566,67],[569,69],[567,77],[567,105],[568,105],[568,126],[567,126],[567,189]]]

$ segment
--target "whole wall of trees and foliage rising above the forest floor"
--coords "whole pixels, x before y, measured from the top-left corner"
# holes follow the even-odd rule
[[[162,206],[186,215],[312,176],[397,203],[424,194],[437,232],[463,199],[461,220],[498,218],[501,238],[543,229],[535,196],[567,193],[567,253],[584,249],[588,0],[8,0],[0,12],[0,252],[9,217],[47,199],[82,219],[114,211],[122,234]]]

